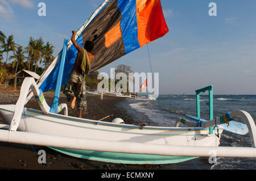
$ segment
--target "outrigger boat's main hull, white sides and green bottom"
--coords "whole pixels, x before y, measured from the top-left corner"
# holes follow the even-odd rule
[[[1,105],[0,115],[10,124],[15,105]],[[174,145],[174,146],[218,146],[220,138],[209,134],[207,128],[139,127],[137,125],[107,123],[79,119],[24,108],[18,131],[44,135],[79,138],[96,141],[112,141],[126,144]],[[221,134],[222,129],[219,129]],[[39,143],[40,145],[40,143]],[[71,148],[50,148],[74,157],[131,164],[164,164],[187,161],[196,157],[170,157],[157,154],[133,154],[118,151],[93,151]],[[145,152],[146,153],[146,152]],[[152,152],[154,153],[154,151]]]

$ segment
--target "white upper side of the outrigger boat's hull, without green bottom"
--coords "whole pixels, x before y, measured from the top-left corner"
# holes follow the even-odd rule
[[[10,124],[15,105],[1,105],[3,119]],[[220,138],[209,134],[207,128],[139,127],[79,119],[55,113],[24,108],[18,131],[56,136],[89,138],[108,141],[141,142],[146,144],[218,146]],[[219,129],[221,133],[222,129]]]

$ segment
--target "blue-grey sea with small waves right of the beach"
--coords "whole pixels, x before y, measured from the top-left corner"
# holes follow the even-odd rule
[[[200,95],[201,118],[209,120],[208,95]],[[156,100],[141,96],[140,99],[127,99],[121,106],[132,113],[135,120],[151,126],[175,127],[181,114],[196,116],[196,95],[159,95]],[[213,95],[214,117],[234,110],[244,110],[256,120],[256,95]],[[183,116],[184,117],[184,116]],[[243,123],[242,120],[236,121]],[[250,147],[250,135],[225,131],[221,134],[220,146]],[[206,159],[205,159],[206,161]],[[217,158],[210,169],[256,169],[255,158]],[[200,162],[196,163],[200,168]],[[189,168],[187,168],[189,169]]]

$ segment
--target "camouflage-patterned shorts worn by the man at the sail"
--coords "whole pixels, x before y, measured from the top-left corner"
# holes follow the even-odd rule
[[[77,94],[77,86],[74,84],[72,87],[70,83],[81,83],[80,91]],[[87,110],[87,103],[86,103],[86,91],[85,91],[85,77],[79,73],[70,73],[68,75],[67,83],[65,84],[63,94],[67,96],[69,102],[69,95],[74,93],[76,96],[77,101],[77,110],[86,111]]]

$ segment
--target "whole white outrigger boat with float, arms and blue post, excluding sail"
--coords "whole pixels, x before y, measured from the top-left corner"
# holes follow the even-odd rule
[[[102,9],[112,2],[114,0],[106,0],[94,12],[77,31],[77,39],[90,22],[103,11]],[[67,105],[59,105],[59,94],[61,82],[63,83],[65,59],[68,59],[67,50],[71,47],[71,41],[65,40],[62,52],[37,83],[34,78],[24,79],[16,105],[0,105],[0,115],[7,123],[0,125],[0,141],[48,146],[73,157],[113,163],[177,163],[197,157],[209,157],[212,150],[215,151],[216,157],[256,158],[256,127],[253,118],[246,111],[232,111],[213,119],[212,86],[197,90],[198,100],[200,92],[209,90],[209,108],[212,112],[210,121],[199,119],[199,101],[198,120],[190,117],[194,121],[189,121],[178,117],[176,127],[140,127],[125,124],[121,119],[114,119],[112,123],[108,123],[68,116]],[[41,88],[57,65],[57,76],[53,75],[57,79],[56,88],[54,87],[55,98],[53,104],[48,106]],[[33,95],[41,110],[25,107]],[[62,110],[64,115],[58,114]],[[224,129],[221,124],[232,123],[237,117],[241,117],[247,125],[251,148],[218,146]],[[187,127],[179,127],[180,123]]]

